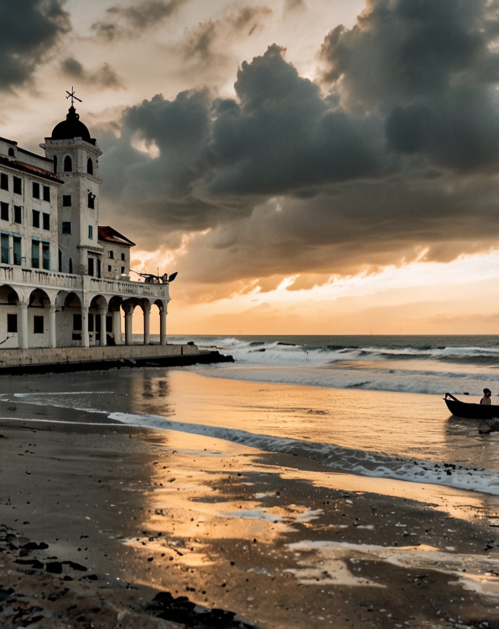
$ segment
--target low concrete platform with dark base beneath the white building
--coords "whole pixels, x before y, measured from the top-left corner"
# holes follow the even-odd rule
[[[116,345],[109,347],[39,347],[0,350],[0,374],[167,367],[233,362],[232,356],[200,351],[197,345]]]

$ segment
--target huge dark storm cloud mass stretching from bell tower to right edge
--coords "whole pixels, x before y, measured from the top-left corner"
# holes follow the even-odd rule
[[[321,86],[273,45],[241,65],[234,99],[144,101],[102,159],[105,172],[126,156],[108,203],[134,228],[141,204],[142,247],[211,228],[182,262],[204,281],[486,250],[499,236],[498,16],[495,0],[371,0],[326,36]]]

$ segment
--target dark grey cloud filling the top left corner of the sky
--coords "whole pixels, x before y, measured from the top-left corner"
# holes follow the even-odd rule
[[[70,30],[65,0],[0,0],[0,89],[19,86]]]

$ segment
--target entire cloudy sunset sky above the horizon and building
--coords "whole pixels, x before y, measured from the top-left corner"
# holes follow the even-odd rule
[[[75,87],[100,223],[178,271],[169,333],[498,332],[499,0],[0,16],[0,135],[41,153]]]

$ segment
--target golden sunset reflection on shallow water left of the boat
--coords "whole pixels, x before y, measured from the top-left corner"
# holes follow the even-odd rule
[[[498,434],[449,418],[442,396],[133,372],[132,413],[499,469]]]

